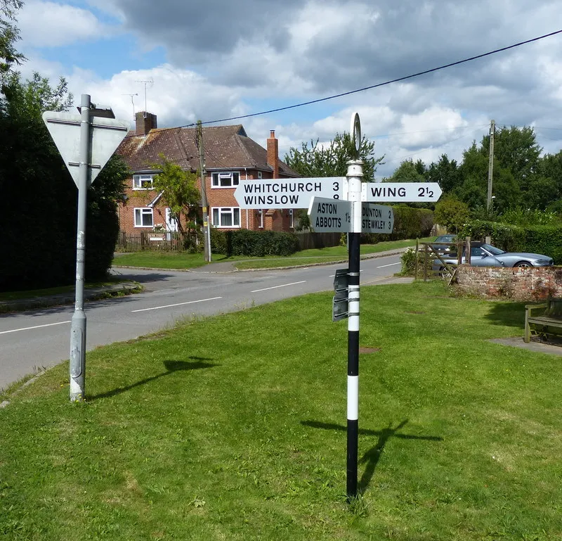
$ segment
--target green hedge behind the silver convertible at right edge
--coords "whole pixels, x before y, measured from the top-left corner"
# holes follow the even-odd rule
[[[536,225],[520,227],[474,220],[465,224],[459,236],[473,240],[492,238],[492,244],[507,252],[530,252],[549,255],[554,265],[562,265],[562,225]]]

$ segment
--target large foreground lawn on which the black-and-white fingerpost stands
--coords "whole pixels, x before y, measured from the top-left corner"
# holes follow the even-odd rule
[[[523,305],[363,287],[359,484],[345,502],[345,322],[332,293],[87,355],[0,409],[2,540],[562,538],[560,357]],[[5,397],[4,397],[5,398]],[[1,400],[1,399],[0,399]]]

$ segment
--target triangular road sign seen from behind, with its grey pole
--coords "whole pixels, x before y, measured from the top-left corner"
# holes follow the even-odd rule
[[[105,117],[92,122],[93,117]],[[84,260],[86,254],[86,194],[115,148],[126,136],[129,122],[115,118],[109,108],[96,108],[89,94],[81,95],[80,115],[43,113],[55,145],[78,187],[76,298],[70,327],[70,400],[84,400],[86,380],[86,315]]]

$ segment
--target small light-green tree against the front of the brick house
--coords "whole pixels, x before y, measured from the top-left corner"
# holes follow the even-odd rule
[[[170,208],[184,243],[192,243],[198,231],[197,210],[201,193],[197,189],[197,174],[184,171],[178,164],[159,154],[160,162],[152,165],[161,172],[152,179],[155,190],[162,192],[162,201]]]

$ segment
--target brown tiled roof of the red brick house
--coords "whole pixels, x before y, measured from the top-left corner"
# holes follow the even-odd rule
[[[196,171],[199,167],[199,151],[195,143],[196,128],[151,129],[147,135],[126,136],[117,148],[131,170],[152,170],[159,161],[158,155],[184,169]],[[267,151],[250,139],[244,127],[216,126],[203,128],[205,167],[214,169],[258,169],[273,171],[267,163]],[[299,177],[288,165],[279,161],[279,172],[287,177]]]

